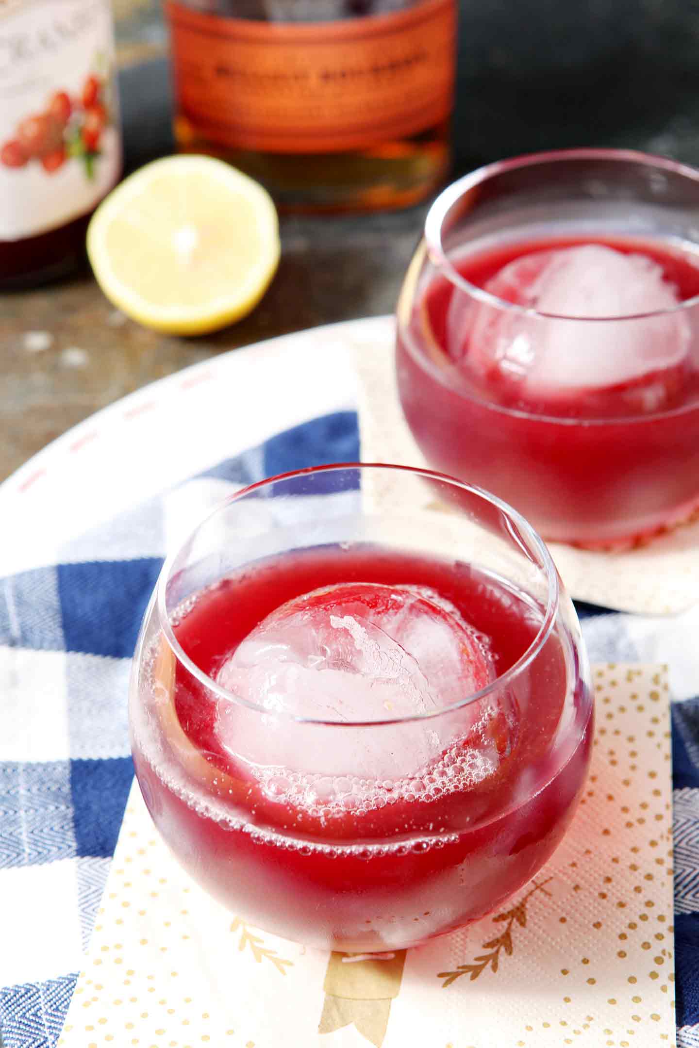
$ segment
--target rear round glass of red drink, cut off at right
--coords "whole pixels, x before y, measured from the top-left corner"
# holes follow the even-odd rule
[[[621,245],[693,290],[650,311],[565,315],[522,304],[506,280],[495,293],[467,279],[474,260],[556,242]],[[672,160],[542,153],[446,189],[397,309],[400,402],[428,463],[506,499],[547,540],[628,546],[686,520],[699,505],[698,253],[699,172]],[[639,353],[668,366],[615,380]],[[575,358],[591,375],[570,378]],[[590,388],[574,402],[537,396],[532,361],[545,362],[539,390],[559,396],[562,375]]]

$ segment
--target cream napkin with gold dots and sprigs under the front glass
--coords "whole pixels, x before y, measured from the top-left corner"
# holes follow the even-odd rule
[[[327,954],[250,927],[180,869],[134,784],[59,1045],[674,1045],[665,671],[593,679],[591,773],[563,844],[501,911],[416,949]]]

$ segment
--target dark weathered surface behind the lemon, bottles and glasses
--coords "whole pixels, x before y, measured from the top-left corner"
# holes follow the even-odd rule
[[[158,0],[115,0],[127,167],[171,151]],[[685,0],[462,0],[455,171],[573,145],[699,162],[699,8]],[[0,297],[0,479],[92,412],[189,364],[260,339],[394,308],[424,208],[282,221],[279,274],[216,335],[158,335],[88,271]]]

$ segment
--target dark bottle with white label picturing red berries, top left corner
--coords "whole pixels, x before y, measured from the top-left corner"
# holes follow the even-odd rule
[[[73,268],[121,170],[109,0],[0,0],[0,288]]]

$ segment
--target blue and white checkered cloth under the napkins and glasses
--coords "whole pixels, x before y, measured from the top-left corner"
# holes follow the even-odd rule
[[[4,1048],[56,1044],[81,967],[131,785],[129,662],[165,555],[166,507],[187,502],[199,516],[265,476],[358,457],[354,412],[312,419],[71,542],[60,563],[0,578]],[[699,1048],[696,634],[677,619],[578,613],[593,660],[671,661],[675,672],[677,1028],[682,1048]]]

